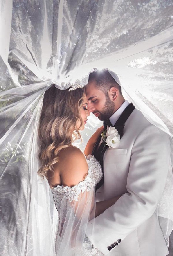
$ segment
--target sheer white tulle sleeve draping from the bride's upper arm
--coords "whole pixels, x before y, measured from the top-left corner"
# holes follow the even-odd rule
[[[87,222],[91,219],[94,221],[94,187],[92,191],[80,193],[78,201],[69,202],[63,198],[59,211],[61,218],[59,226],[57,225],[55,243],[57,255],[82,255]]]

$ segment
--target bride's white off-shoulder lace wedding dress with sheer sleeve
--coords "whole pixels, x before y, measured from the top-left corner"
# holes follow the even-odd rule
[[[95,157],[89,155],[86,161],[88,174],[84,181],[73,187],[58,185],[52,188],[59,215],[55,240],[59,256],[103,255],[85,236],[87,223],[94,221],[95,216],[95,185],[102,177],[101,166]]]

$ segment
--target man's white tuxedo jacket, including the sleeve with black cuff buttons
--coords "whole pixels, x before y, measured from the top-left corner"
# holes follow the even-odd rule
[[[169,161],[168,135],[133,110],[119,147],[104,154],[104,184],[96,191],[97,201],[123,196],[86,230],[104,255],[168,255],[155,209],[166,184]]]

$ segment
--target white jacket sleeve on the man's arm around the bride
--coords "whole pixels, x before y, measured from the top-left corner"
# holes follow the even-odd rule
[[[87,227],[86,235],[102,253],[108,254],[111,244],[121,242],[153,215],[166,184],[169,162],[168,134],[154,125],[144,128],[131,151],[128,193],[95,218],[94,227],[92,223]]]

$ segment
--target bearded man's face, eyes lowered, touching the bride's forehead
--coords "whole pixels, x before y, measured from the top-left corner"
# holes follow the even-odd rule
[[[88,110],[92,112],[99,120],[103,121],[114,113],[115,104],[110,97],[103,91],[97,89],[95,81],[90,81],[85,87],[86,97],[88,100]]]

